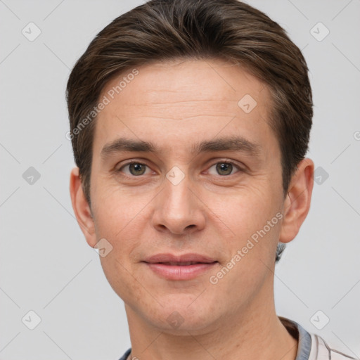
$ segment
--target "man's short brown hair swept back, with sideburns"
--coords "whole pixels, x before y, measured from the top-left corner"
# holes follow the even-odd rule
[[[300,49],[278,23],[238,0],[150,0],[101,30],[68,79],[70,137],[89,205],[96,123],[90,120],[96,120],[93,110],[105,84],[131,68],[176,58],[230,60],[269,86],[269,124],[281,148],[285,195],[307,153],[313,115]],[[89,124],[80,129],[86,118]],[[283,248],[278,247],[276,261]]]

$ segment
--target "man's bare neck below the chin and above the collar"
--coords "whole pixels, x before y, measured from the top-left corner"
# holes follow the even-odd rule
[[[205,360],[269,359],[295,360],[297,340],[276,315],[274,288],[271,299],[264,302],[258,294],[250,304],[224,314],[211,330],[193,333],[169,333],[154,328],[125,304],[131,338],[131,359]],[[269,289],[267,289],[269,290]],[[266,289],[262,289],[266,293]],[[232,309],[234,310],[234,309]]]

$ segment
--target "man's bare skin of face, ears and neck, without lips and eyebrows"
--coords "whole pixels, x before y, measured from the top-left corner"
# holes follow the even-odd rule
[[[124,300],[132,356],[295,359],[297,340],[276,316],[274,258],[278,240],[293,240],[309,212],[314,163],[307,158],[298,164],[284,197],[281,152],[269,126],[270,92],[242,68],[223,60],[177,60],[138,70],[96,120],[91,209],[77,167],[70,176],[72,206],[87,243],[94,248],[105,238],[113,246],[101,265]],[[250,113],[238,106],[245,94],[257,101]],[[190,152],[193,143],[233,135],[257,143],[257,154]],[[160,151],[101,158],[105,144],[120,136],[151,141]],[[131,159],[146,165],[143,174],[122,167]],[[217,172],[226,161],[235,163],[232,171]],[[166,177],[174,166],[184,173],[177,185]],[[210,283],[278,212],[283,219],[217,284]],[[197,278],[169,281],[141,262],[160,252],[196,252],[219,263]],[[183,319],[178,328],[167,321],[174,311]]]

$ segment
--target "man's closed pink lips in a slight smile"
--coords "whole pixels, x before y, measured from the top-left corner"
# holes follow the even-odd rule
[[[198,254],[158,254],[144,263],[155,275],[167,280],[191,280],[219,264],[217,260]]]

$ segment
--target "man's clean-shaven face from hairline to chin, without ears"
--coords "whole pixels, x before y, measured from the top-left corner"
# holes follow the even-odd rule
[[[101,264],[129,312],[201,333],[271,294],[284,198],[270,93],[221,60],[137,70],[103,89],[86,239],[112,247]]]

